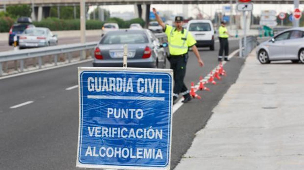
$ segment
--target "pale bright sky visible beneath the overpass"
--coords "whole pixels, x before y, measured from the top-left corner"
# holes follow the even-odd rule
[[[223,9],[223,6],[229,6],[229,4],[200,4],[199,8],[203,13],[205,13],[204,17],[207,17],[207,15],[214,16],[215,11],[221,11]],[[188,6],[188,17],[195,16],[198,11],[196,9],[193,9],[193,5],[187,5]],[[233,5],[235,9],[235,4]],[[134,6],[133,5],[104,5],[102,6],[105,9],[108,9],[110,12],[134,12]],[[165,11],[165,10],[171,10],[174,15],[178,13],[182,13],[182,5],[167,5],[167,4],[151,4],[151,10],[152,8],[156,8],[158,11]],[[304,5],[299,6],[300,10],[304,10]],[[172,10],[173,9],[173,10]],[[253,6],[253,14],[255,16],[258,16],[261,14],[261,10],[275,10],[277,11],[277,14],[279,12],[292,12],[294,9],[293,4],[254,4]],[[236,14],[236,12],[234,12]],[[229,15],[229,14],[228,14]]]

